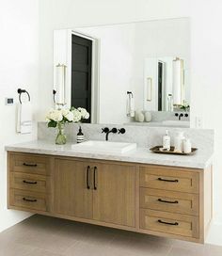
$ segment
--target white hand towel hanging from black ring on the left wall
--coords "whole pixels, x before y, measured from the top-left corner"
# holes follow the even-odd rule
[[[30,102],[19,104],[17,132],[31,134],[32,132],[32,105]]]

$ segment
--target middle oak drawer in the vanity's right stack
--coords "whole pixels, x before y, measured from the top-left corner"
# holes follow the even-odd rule
[[[140,208],[198,216],[198,195],[140,188]]]

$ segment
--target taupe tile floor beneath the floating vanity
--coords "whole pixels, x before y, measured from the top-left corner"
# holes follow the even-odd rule
[[[0,256],[222,256],[222,247],[32,216],[0,233]]]

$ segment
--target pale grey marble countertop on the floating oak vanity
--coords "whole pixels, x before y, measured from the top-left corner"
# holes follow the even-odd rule
[[[164,165],[183,168],[206,168],[213,160],[210,152],[198,150],[194,155],[171,155],[150,152],[148,148],[137,148],[125,153],[105,152],[76,152],[71,144],[59,146],[49,141],[34,140],[20,144],[6,146],[9,152],[29,152],[61,156],[74,156],[82,158],[113,160],[139,164]]]

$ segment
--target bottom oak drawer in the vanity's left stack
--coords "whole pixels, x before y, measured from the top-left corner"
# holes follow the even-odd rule
[[[10,189],[9,203],[11,206],[25,209],[47,211],[46,197],[44,194],[41,195],[40,193]]]

